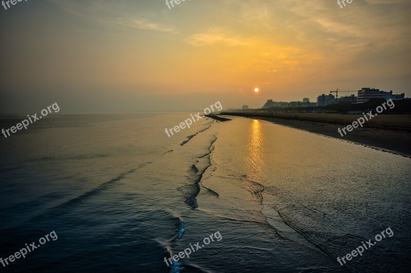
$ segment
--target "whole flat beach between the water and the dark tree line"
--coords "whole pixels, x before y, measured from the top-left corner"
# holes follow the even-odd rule
[[[353,129],[344,137],[338,133],[338,128],[346,127],[362,115],[258,112],[222,112],[221,115],[266,120],[411,157],[411,115],[381,115],[367,121],[363,128]]]

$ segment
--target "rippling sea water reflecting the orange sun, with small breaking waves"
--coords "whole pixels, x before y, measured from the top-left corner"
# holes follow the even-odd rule
[[[58,239],[0,268],[411,269],[410,158],[237,117],[206,117],[167,137],[165,128],[187,118],[190,113],[56,115],[3,137],[0,257],[52,231]],[[388,227],[391,237],[343,266],[337,261]],[[164,259],[186,248],[190,258],[167,266]]]

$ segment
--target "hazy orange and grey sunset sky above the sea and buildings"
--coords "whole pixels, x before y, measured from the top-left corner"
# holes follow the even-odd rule
[[[411,97],[410,11],[410,0],[0,6],[0,113],[260,108],[337,88]]]

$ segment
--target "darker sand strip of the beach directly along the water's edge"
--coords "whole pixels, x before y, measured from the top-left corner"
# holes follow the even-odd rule
[[[363,127],[357,128],[342,137],[341,134],[338,133],[338,128],[345,127],[349,123],[335,124],[303,119],[283,119],[276,117],[256,116],[253,115],[253,113],[249,113],[248,115],[242,115],[242,113],[224,113],[222,115],[265,120],[277,125],[283,125],[289,128],[327,137],[338,138],[354,144],[368,146],[372,149],[378,149],[384,152],[390,152],[411,158],[411,133],[407,131]],[[352,121],[357,119],[355,116],[351,117]]]

